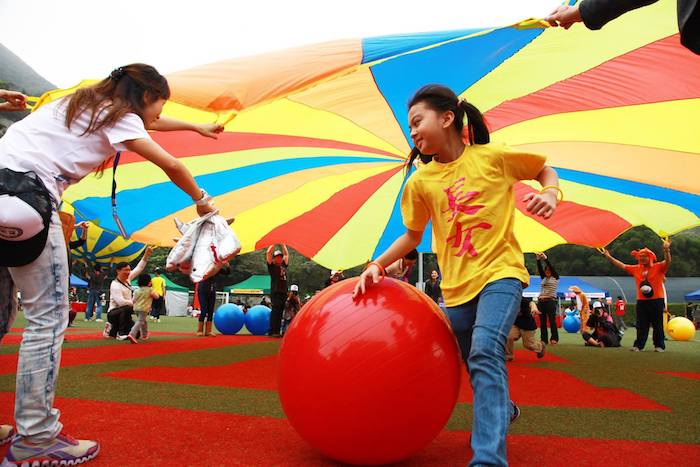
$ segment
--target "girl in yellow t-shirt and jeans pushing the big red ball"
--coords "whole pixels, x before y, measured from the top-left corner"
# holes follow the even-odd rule
[[[466,120],[466,125],[465,125]],[[520,414],[508,397],[505,345],[529,274],[513,234],[513,185],[531,217],[548,219],[557,205],[556,172],[545,157],[490,143],[481,112],[450,89],[428,85],[409,103],[416,157],[426,163],[408,178],[401,199],[406,233],[360,276],[355,295],[380,280],[384,268],[416,248],[432,221],[447,315],[474,393],[470,465],[506,465],[508,425]]]

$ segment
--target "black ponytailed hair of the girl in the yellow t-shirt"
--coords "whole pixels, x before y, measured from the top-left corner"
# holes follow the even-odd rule
[[[451,111],[454,113],[454,128],[460,135],[464,129],[464,120],[466,117],[467,134],[470,145],[488,144],[491,140],[488,126],[486,126],[486,120],[484,120],[484,116],[479,109],[466,100],[458,98],[450,88],[440,84],[428,84],[427,86],[423,86],[416,91],[408,102],[408,108],[410,109],[419,102],[424,102],[429,108],[436,112]],[[426,164],[433,159],[431,155],[421,154],[418,148],[414,147],[406,161],[407,173],[410,172],[416,157],[420,157],[421,161]]]

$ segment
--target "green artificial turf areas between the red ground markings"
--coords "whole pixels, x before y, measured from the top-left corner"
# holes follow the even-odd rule
[[[76,328],[98,331],[102,328],[101,324],[77,321]],[[23,325],[23,319],[20,317],[15,327]],[[195,329],[196,322],[192,318],[164,317],[161,323],[153,323],[151,326],[152,331],[166,332],[193,332]],[[691,342],[668,340],[665,353],[653,352],[651,333],[645,352],[630,352],[634,335],[635,330],[629,329],[623,339],[623,347],[599,349],[584,347],[578,334],[562,331],[560,343],[548,347],[547,352],[564,358],[569,363],[538,361],[532,366],[566,372],[600,388],[627,389],[670,408],[670,411],[571,408],[566,407],[565,400],[580,396],[575,393],[558,393],[552,389],[542,394],[542,398],[562,401],[562,406],[523,406],[522,417],[511,427],[510,432],[700,444],[700,380],[658,374],[700,373],[700,341],[697,340],[700,339],[700,333],[696,335],[696,340]],[[68,338],[66,348],[125,345],[113,340],[70,342],[70,333]],[[156,337],[152,342],[174,338],[183,337]],[[148,344],[144,343],[144,346]],[[279,345],[280,341],[262,341],[189,352],[178,352],[175,347],[173,352],[177,353],[173,354],[70,366],[61,369],[57,394],[92,400],[284,417],[279,397],[271,390],[150,382],[104,376],[105,373],[153,366],[227,365],[274,355],[278,352]],[[521,344],[516,344],[516,349],[520,348]],[[2,347],[0,353],[16,351],[16,345],[9,345]],[[14,385],[14,375],[0,376],[0,391],[13,391]],[[458,404],[447,429],[469,430],[471,416],[470,404]]]

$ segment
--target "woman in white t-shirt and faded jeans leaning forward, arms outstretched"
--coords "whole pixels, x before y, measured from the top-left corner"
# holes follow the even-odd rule
[[[160,167],[192,197],[199,215],[214,209],[182,162],[154,142],[147,130],[192,130],[215,137],[223,128],[159,118],[169,97],[168,82],[155,68],[144,64],[119,67],[99,83],[33,112],[0,139],[0,170],[34,172],[54,205],[39,256],[24,266],[0,266],[0,338],[14,318],[16,304],[11,297],[15,286],[22,292],[27,319],[17,368],[18,436],[13,438],[3,465],[33,465],[46,459],[79,463],[94,458],[99,451],[95,441],[62,434],[59,411],[53,408],[68,323],[67,254],[56,212],[63,191],[95,169],[104,170],[116,151],[128,150]],[[13,221],[14,212],[8,206],[10,202],[16,206],[17,199],[12,201],[12,197],[0,196],[3,222]],[[16,219],[16,225],[21,221]],[[0,237],[17,231],[0,229]]]

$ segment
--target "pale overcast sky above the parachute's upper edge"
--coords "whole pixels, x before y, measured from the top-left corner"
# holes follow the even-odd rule
[[[505,26],[557,0],[0,0],[0,43],[59,87],[333,39]]]

